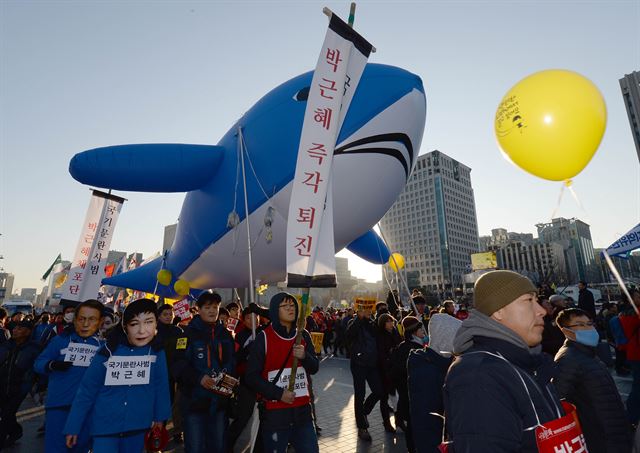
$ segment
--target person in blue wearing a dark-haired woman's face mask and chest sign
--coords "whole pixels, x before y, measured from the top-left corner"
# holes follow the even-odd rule
[[[162,345],[153,341],[156,327],[154,301],[139,299],[127,306],[73,400],[64,428],[67,447],[77,443],[88,419],[94,453],[139,453],[149,428],[171,416],[166,358]]]

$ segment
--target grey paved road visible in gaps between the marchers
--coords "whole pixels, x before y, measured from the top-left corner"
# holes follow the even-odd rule
[[[626,400],[631,390],[631,378],[616,376],[614,379],[622,399]],[[318,441],[321,452],[362,453],[362,452],[406,452],[404,434],[386,433],[378,407],[369,416],[369,432],[373,441],[358,439],[353,413],[353,381],[349,371],[349,361],[343,358],[325,358],[320,371],[313,378],[315,389],[316,414],[322,435]],[[24,429],[24,437],[13,447],[3,451],[7,453],[36,453],[44,451],[44,435],[38,428],[44,421],[42,407],[36,406],[31,397],[25,400],[19,421]],[[247,433],[245,433],[245,438]],[[170,444],[168,453],[182,453],[182,445]],[[238,449],[241,452],[242,449]]]

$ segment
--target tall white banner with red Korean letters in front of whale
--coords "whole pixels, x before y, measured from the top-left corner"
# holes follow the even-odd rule
[[[331,167],[372,46],[335,14],[313,73],[287,222],[287,286],[336,286]]]

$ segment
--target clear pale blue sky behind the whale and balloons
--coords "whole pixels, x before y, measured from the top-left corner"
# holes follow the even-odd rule
[[[68,173],[75,153],[216,143],[263,94],[313,67],[323,6],[348,15],[348,2],[2,0],[0,266],[15,274],[14,288],[42,287],[53,258],[74,253],[89,200]],[[638,0],[447,0],[361,1],[355,25],[378,49],[370,61],[422,77],[421,152],[439,149],[473,169],[481,235],[534,232],[560,191],[501,156],[493,116],[502,96],[542,69],[590,78],[607,102],[608,127],[574,179],[587,214],[566,196],[558,215],[585,219],[603,247],[640,219],[640,166],[618,84],[640,70],[638,24]],[[112,248],[160,250],[183,195],[121,195],[128,202]],[[374,266],[351,267],[380,276]]]

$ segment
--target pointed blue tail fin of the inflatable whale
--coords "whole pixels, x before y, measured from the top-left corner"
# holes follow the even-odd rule
[[[171,283],[167,286],[160,284],[156,285],[158,271],[160,269],[162,269],[161,256],[128,272],[114,275],[109,278],[103,278],[102,284],[143,291],[145,293],[154,293],[155,291],[155,294],[158,296],[169,297],[172,299],[181,298],[182,296],[179,296],[173,288],[173,284],[176,282],[177,276],[174,275]],[[191,289],[191,295],[194,297],[197,297],[201,292],[202,290],[200,289]]]

